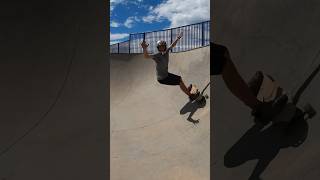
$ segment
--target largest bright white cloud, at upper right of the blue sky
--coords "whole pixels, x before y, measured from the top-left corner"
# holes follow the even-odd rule
[[[210,19],[210,0],[168,0],[149,9],[144,22],[168,19],[171,27],[177,27]]]

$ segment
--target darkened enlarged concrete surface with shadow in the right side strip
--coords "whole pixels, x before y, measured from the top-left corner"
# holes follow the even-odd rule
[[[246,81],[262,70],[293,94],[320,63],[319,1],[215,0],[212,11],[214,40],[229,48]],[[291,135],[272,127],[261,130],[221,76],[212,81],[213,179],[320,179],[319,115]],[[319,113],[319,84],[318,74],[298,105],[308,102]]]

